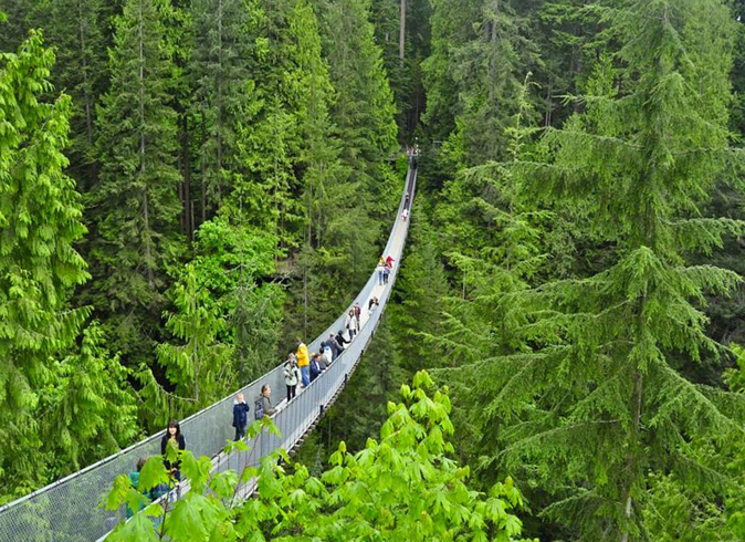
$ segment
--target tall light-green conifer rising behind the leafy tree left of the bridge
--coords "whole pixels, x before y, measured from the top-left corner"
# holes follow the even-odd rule
[[[295,249],[304,231],[298,173],[301,127],[307,122],[308,66],[300,55],[297,1],[251,1],[251,82],[237,127],[238,168],[229,212],[277,236],[282,250]],[[303,30],[301,28],[301,30]],[[228,210],[228,209],[227,209]]]

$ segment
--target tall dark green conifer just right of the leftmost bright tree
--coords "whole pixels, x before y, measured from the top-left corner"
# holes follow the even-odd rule
[[[161,22],[168,9],[161,0],[126,2],[98,113],[102,170],[90,198],[94,302],[125,359],[151,355],[165,265],[179,247],[172,66]]]

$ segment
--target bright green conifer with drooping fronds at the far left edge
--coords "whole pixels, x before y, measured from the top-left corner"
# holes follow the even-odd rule
[[[19,52],[0,53],[0,470],[3,493],[43,479],[32,416],[53,382],[50,359],[71,347],[86,309],[72,290],[88,277],[74,243],[85,233],[67,165],[70,98],[51,94],[54,54],[32,32]]]

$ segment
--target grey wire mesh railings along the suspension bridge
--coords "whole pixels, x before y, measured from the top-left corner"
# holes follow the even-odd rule
[[[410,160],[403,190],[410,197],[401,195],[397,218],[384,251],[384,254],[390,254],[397,262],[400,262],[409,227],[408,220],[402,217],[402,210],[410,207],[416,178],[416,167]],[[321,336],[308,344],[308,351],[317,352],[321,342],[343,326],[345,316],[355,302],[359,302],[364,308],[366,317],[351,344],[347,345],[330,367],[273,417],[274,424],[280,429],[279,436],[264,430],[255,441],[250,442],[249,451],[221,454],[225,442],[233,437],[231,421],[235,394],[243,393],[246,402],[252,405],[252,399],[259,396],[264,384],[269,384],[277,392],[284,390],[282,364],[230,396],[186,418],[181,423],[181,431],[186,436],[187,448],[197,456],[213,457],[217,471],[227,469],[240,471],[246,466],[258,466],[261,458],[274,449],[292,449],[322,415],[323,408],[344,386],[359,362],[380,321],[398,269],[399,264],[394,265],[389,283],[382,289],[377,284],[376,273],[372,273],[353,303]],[[379,308],[368,314],[366,302],[378,291]],[[123,519],[123,511],[108,512],[102,507],[114,479],[122,473],[130,472],[138,458],[159,454],[162,435],[164,431],[153,435],[78,472],[1,507],[0,541],[92,542],[105,536]]]

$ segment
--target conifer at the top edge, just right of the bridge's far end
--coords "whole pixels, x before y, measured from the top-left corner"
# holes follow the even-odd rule
[[[504,159],[521,80],[537,62],[525,19],[508,0],[438,0],[432,32],[423,70],[433,138],[448,142],[453,164]]]

